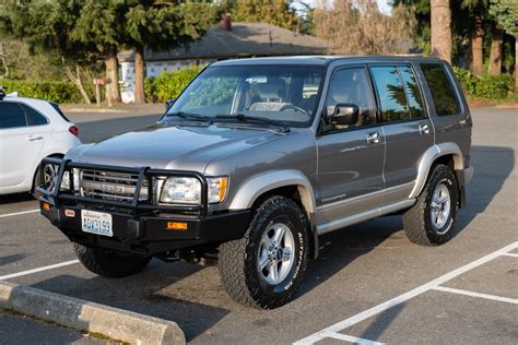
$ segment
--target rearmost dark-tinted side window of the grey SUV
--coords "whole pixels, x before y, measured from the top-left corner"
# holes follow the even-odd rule
[[[428,83],[438,116],[460,112],[459,102],[440,63],[422,63],[421,70]]]

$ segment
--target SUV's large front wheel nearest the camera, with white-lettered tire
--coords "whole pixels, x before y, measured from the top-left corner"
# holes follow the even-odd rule
[[[220,246],[220,275],[227,294],[263,309],[291,301],[307,266],[307,229],[306,215],[293,200],[266,200],[244,238]]]

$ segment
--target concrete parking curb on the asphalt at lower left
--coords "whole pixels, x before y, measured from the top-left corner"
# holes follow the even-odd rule
[[[0,308],[130,344],[186,344],[173,321],[2,281]]]

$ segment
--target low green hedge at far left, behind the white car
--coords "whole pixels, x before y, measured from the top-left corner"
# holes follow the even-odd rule
[[[7,93],[17,92],[20,97],[38,98],[56,103],[80,103],[81,94],[71,82],[0,80]]]

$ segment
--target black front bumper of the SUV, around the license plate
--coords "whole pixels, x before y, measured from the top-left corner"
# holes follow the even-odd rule
[[[242,238],[250,215],[250,211],[245,210],[205,216],[160,214],[134,218],[128,214],[109,212],[114,236],[106,237],[82,230],[81,211],[84,207],[57,207],[44,200],[40,206],[42,214],[73,242],[145,255]],[[186,223],[187,228],[168,229],[167,224],[170,222]]]

